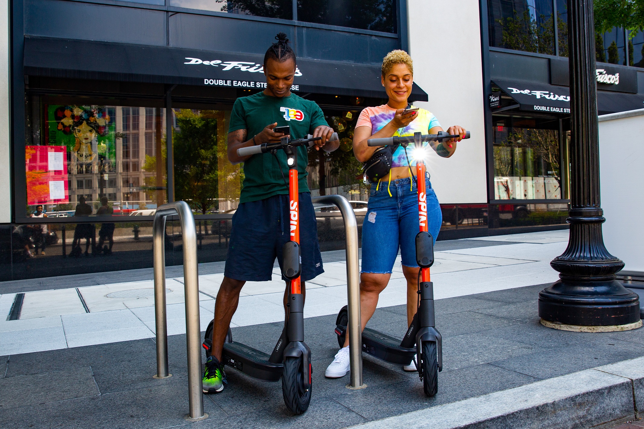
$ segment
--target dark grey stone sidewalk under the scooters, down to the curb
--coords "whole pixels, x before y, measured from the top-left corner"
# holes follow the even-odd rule
[[[504,425],[503,421],[493,424],[494,420],[490,420],[495,407],[518,418],[518,414],[508,414],[511,411],[508,403],[512,406],[529,403],[542,406],[542,410],[554,410],[548,405],[551,403],[564,404],[556,410],[569,408],[576,415],[595,404],[602,405],[602,410],[612,410],[609,405],[613,399],[619,399],[620,406],[623,405],[626,380],[616,381],[614,388],[610,387],[612,381],[602,381],[603,385],[593,381],[595,388],[600,385],[609,388],[593,396],[604,397],[604,402],[562,403],[567,397],[562,392],[567,389],[565,392],[579,397],[580,388],[573,387],[579,387],[587,376],[578,379],[573,373],[644,356],[644,329],[589,334],[556,331],[540,325],[536,300],[545,286],[437,300],[437,327],[444,338],[444,370],[439,374],[439,392],[435,397],[424,396],[417,374],[403,372],[397,365],[369,356],[364,358],[364,379],[368,385],[364,390],[346,389],[346,376],[325,378],[324,370],[337,351],[335,315],[327,315],[305,321],[305,338],[314,358],[314,384],[310,408],[303,415],[293,416],[285,408],[281,383],[258,381],[227,368],[229,385],[225,390],[204,396],[209,419],[186,423],[185,335],[180,334],[169,337],[170,372],[174,375],[162,380],[152,378],[156,369],[155,343],[149,338],[1,358],[0,377],[4,374],[4,378],[0,378],[3,397],[0,427],[335,429],[367,422],[377,425],[379,419],[410,412],[432,415],[445,409],[441,406],[455,407],[453,414],[457,417],[462,417],[466,410],[477,409],[481,419],[488,421],[478,426],[436,426],[442,428],[587,427],[574,421],[564,422],[564,426],[542,426],[530,414],[516,420],[524,422],[522,426]],[[370,326],[400,338],[406,328],[405,318],[404,306],[379,308]],[[279,332],[281,323],[232,329],[237,341],[265,352],[272,349]],[[562,376],[567,378],[556,379]],[[534,383],[545,383],[545,388],[544,384]],[[539,386],[542,389],[535,390]],[[508,390],[516,388],[523,390]],[[502,394],[503,391],[510,395]],[[521,392],[527,397],[520,397]],[[558,395],[554,399],[559,402],[544,396],[548,392]],[[614,392],[621,396],[613,398]],[[490,402],[495,397],[506,403],[505,408],[499,402]],[[535,398],[546,400],[546,405],[539,405]],[[471,402],[459,401],[474,401],[478,408],[467,408]],[[592,410],[591,407],[585,414]],[[476,417],[471,413],[468,416]],[[433,428],[430,423],[436,423],[415,417],[412,421],[413,425],[403,426]]]

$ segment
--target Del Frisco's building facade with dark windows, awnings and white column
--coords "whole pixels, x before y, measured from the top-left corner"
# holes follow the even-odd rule
[[[562,0],[5,6],[0,280],[149,267],[153,210],[178,199],[195,212],[200,262],[225,259],[243,179],[226,158],[229,114],[236,98],[263,89],[263,53],[278,32],[298,55],[292,91],[315,100],[341,137],[339,151],[310,155],[312,194],[340,193],[356,208],[368,199],[353,129],[361,109],[386,102],[382,58],[404,49],[415,104],[472,134],[455,156],[428,162],[439,239],[565,228]],[[459,22],[448,18],[456,11]],[[600,39],[598,60],[610,61],[598,62],[600,113],[641,107],[644,40],[619,30]],[[39,206],[47,217],[34,217]],[[323,250],[343,243],[328,210],[319,208]],[[166,232],[166,262],[178,264],[178,224]]]

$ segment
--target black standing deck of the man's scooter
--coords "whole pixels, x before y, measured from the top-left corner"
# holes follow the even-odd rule
[[[242,371],[253,378],[265,381],[278,381],[284,365],[269,362],[270,355],[253,349],[245,344],[232,342],[223,344],[222,360],[224,365]]]

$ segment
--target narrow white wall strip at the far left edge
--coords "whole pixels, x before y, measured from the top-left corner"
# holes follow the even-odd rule
[[[9,2],[0,0],[0,223],[11,221]]]

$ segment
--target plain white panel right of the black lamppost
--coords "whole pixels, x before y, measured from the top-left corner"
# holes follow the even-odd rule
[[[644,272],[644,109],[600,116],[601,208],[606,248]]]

